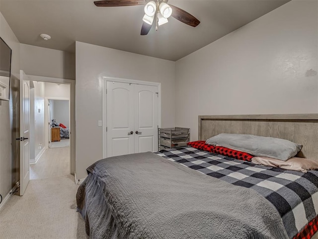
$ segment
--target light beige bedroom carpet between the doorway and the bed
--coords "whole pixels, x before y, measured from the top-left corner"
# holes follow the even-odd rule
[[[87,239],[76,212],[78,186],[72,175],[30,180],[25,194],[0,211],[0,238]]]

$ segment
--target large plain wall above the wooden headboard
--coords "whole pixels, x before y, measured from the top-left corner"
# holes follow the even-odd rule
[[[199,115],[318,113],[318,2],[291,1],[176,62],[176,126]]]

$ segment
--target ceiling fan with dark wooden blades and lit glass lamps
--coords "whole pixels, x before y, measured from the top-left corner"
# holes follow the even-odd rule
[[[99,0],[94,1],[96,6],[135,6],[145,5],[145,15],[143,17],[143,25],[141,27],[141,35],[147,35],[153,25],[158,26],[167,23],[168,17],[196,27],[200,21],[190,13],[171,4],[167,4],[168,0]]]

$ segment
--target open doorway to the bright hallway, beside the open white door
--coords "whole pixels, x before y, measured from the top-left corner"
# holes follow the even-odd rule
[[[30,133],[33,135],[30,179],[72,174],[72,84],[37,79],[33,85],[30,99],[30,126],[33,131]]]

